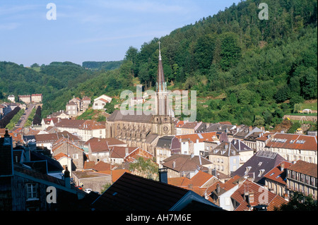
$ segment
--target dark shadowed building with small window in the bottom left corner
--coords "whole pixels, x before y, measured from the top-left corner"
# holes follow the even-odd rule
[[[0,138],[0,154],[2,210],[62,211],[85,207],[82,200],[86,193],[71,185],[67,169],[62,179],[50,176],[47,173],[48,159],[33,161],[28,147],[13,150],[12,137],[7,132],[4,138]],[[52,188],[56,197],[47,197],[47,191]]]

